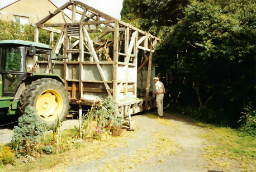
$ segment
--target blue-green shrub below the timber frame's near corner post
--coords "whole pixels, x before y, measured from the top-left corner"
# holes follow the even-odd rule
[[[112,97],[108,96],[103,102],[103,114],[105,122],[112,121],[114,125],[120,126],[122,124],[123,116],[117,112],[115,101]]]

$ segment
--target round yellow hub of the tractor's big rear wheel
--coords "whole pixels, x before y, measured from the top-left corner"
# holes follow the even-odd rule
[[[39,95],[36,102],[36,111],[42,120],[46,122],[54,121],[62,109],[63,99],[58,91],[48,89]]]

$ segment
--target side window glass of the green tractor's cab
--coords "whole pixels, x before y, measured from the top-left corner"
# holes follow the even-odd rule
[[[23,71],[23,49],[1,48],[0,71]]]

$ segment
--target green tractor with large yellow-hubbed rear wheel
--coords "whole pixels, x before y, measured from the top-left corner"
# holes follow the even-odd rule
[[[30,104],[41,122],[64,121],[69,95],[64,80],[54,74],[52,60],[65,59],[45,44],[21,40],[0,41],[0,116],[23,113]],[[36,73],[36,60],[48,64]]]

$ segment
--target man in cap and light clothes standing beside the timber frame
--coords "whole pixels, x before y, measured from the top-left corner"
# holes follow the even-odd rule
[[[159,116],[163,116],[163,103],[164,103],[164,84],[159,81],[158,77],[153,78],[155,83],[155,92],[153,95],[157,95],[157,109]]]

